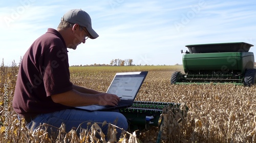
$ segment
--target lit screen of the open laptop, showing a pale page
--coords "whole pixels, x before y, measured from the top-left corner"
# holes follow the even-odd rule
[[[145,76],[143,72],[117,73],[107,93],[116,94],[121,100],[134,100]]]

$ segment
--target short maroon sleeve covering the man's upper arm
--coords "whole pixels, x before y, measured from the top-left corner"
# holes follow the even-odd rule
[[[39,63],[47,96],[72,89],[67,48],[51,47],[41,56]]]

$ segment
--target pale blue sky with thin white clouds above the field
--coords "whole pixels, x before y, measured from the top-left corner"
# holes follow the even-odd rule
[[[69,50],[70,65],[182,64],[188,44],[247,42],[256,46],[256,1],[4,1],[0,4],[1,52],[5,64],[19,61],[48,28],[70,9],[92,18],[97,39]],[[250,52],[256,55],[256,47]]]

